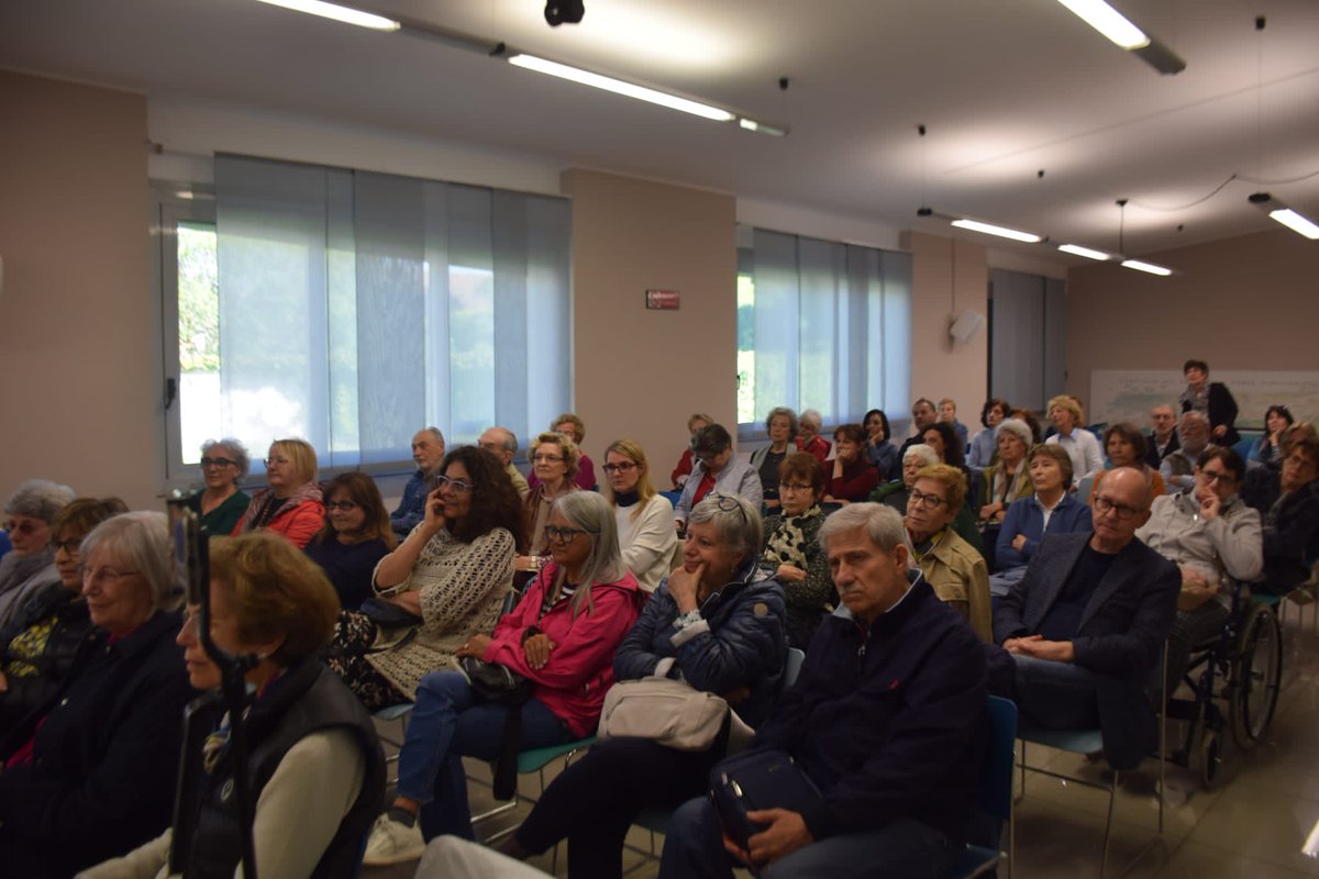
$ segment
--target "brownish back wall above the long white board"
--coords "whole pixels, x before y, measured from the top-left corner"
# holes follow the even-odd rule
[[[1248,210],[1242,206],[1241,210]],[[1093,369],[1319,369],[1319,245],[1282,229],[1163,253],[1169,278],[1116,265],[1067,275],[1067,390]]]

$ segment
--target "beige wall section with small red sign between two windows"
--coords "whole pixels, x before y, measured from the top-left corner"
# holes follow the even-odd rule
[[[572,378],[586,451],[644,443],[667,489],[687,415],[736,434],[737,254],[731,195],[574,169]],[[645,291],[677,290],[678,311],[648,311]]]

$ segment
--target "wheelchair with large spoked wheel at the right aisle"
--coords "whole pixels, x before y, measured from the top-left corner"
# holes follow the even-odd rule
[[[1235,582],[1227,625],[1191,648],[1182,683],[1194,698],[1169,698],[1169,718],[1187,721],[1183,746],[1170,759],[1187,768],[1196,763],[1206,788],[1223,780],[1225,737],[1249,751],[1273,722],[1282,681],[1277,604]]]

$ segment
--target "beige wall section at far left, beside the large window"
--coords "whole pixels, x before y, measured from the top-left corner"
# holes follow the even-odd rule
[[[0,71],[0,494],[42,476],[154,506],[146,101]]]

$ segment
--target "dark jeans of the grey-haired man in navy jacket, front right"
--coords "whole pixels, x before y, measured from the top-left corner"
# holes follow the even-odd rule
[[[952,866],[960,846],[931,826],[902,818],[881,830],[826,837],[760,871],[764,879],[936,879]],[[723,825],[708,797],[689,800],[669,822],[660,879],[731,876],[733,861],[723,846]]]

